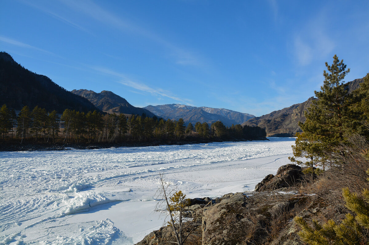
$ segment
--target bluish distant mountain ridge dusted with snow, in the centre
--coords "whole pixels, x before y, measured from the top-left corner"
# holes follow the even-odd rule
[[[225,126],[231,126],[232,124],[241,124],[246,120],[255,117],[248,113],[236,112],[234,110],[223,108],[217,109],[180,104],[149,105],[144,107],[144,109],[147,109],[164,119],[178,120],[183,118],[186,124],[189,122],[193,124],[196,122],[213,123],[220,120]]]

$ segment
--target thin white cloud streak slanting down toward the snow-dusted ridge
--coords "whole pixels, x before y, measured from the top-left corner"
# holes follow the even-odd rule
[[[112,75],[112,76],[116,76],[118,78],[120,78],[120,80],[118,81],[120,84],[123,84],[125,86],[128,86],[130,88],[134,88],[137,89],[138,91],[142,91],[142,92],[146,92],[146,93],[150,93],[151,95],[154,96],[163,96],[163,97],[167,97],[170,99],[174,99],[175,101],[179,101],[182,103],[186,103],[187,105],[191,105],[190,103],[192,102],[190,99],[182,99],[179,98],[175,95],[173,95],[171,92],[166,91],[164,89],[161,88],[152,88],[142,82],[138,82],[138,81],[133,81],[132,79],[128,78],[128,76],[121,74],[119,72],[115,72],[112,71],[110,69],[107,68],[103,68],[103,67],[92,67],[92,69],[94,69],[95,71],[101,72],[103,74],[108,74],[108,75]]]

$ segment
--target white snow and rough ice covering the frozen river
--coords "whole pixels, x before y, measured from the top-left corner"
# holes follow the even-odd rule
[[[164,224],[159,173],[189,198],[252,191],[294,138],[0,152],[0,244],[134,244]]]

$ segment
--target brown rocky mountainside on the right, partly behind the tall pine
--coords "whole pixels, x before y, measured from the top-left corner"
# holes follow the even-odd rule
[[[346,83],[349,93],[359,88],[364,78],[355,79]],[[281,110],[275,110],[269,114],[249,119],[242,126],[259,126],[265,128],[267,137],[293,137],[296,132],[301,132],[299,122],[305,122],[304,111],[310,106],[315,98],[310,97],[307,101]]]

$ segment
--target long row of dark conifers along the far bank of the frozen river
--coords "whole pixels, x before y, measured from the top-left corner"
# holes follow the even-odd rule
[[[120,143],[150,142],[153,140],[186,139],[258,139],[266,136],[265,129],[232,125],[226,127],[220,121],[197,122],[185,126],[179,120],[164,120],[143,115],[101,114],[65,109],[59,118],[55,110],[46,112],[35,106],[30,110],[24,106],[16,115],[4,104],[0,109],[0,131],[3,140],[19,138],[21,142],[64,143]]]

